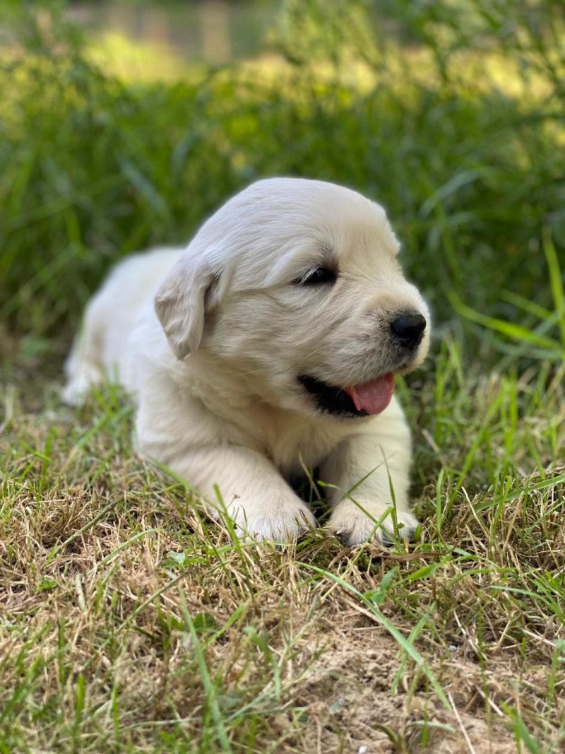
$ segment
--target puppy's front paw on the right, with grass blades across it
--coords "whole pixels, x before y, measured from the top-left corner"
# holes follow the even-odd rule
[[[374,503],[357,505],[344,500],[332,513],[328,527],[347,547],[362,544],[369,539],[378,544],[392,544],[396,539],[412,541],[420,525],[419,521],[408,510],[397,510],[393,517],[389,510],[391,507],[392,505]]]

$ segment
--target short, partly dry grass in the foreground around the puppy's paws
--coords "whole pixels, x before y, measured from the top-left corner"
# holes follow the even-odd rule
[[[13,369],[0,750],[562,749],[563,366],[450,344],[400,386],[423,532],[385,551],[234,543],[136,458],[120,391],[72,411]]]

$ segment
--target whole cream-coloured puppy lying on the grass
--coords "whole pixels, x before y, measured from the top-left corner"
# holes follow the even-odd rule
[[[240,535],[316,526],[289,478],[316,467],[347,544],[414,535],[410,434],[394,375],[429,347],[382,207],[313,180],[256,182],[186,250],[117,265],[66,365],[68,403],[118,380],[141,452],[224,508]]]

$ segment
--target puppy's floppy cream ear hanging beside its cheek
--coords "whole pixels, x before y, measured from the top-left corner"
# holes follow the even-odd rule
[[[179,259],[155,296],[155,312],[178,359],[200,345],[206,303],[218,277],[206,263]]]

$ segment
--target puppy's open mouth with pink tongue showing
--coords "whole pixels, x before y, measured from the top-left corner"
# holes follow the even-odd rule
[[[319,409],[344,417],[380,414],[389,405],[394,392],[392,372],[386,372],[385,375],[376,379],[344,388],[328,385],[327,382],[309,375],[300,375],[298,382],[316,400]]]

